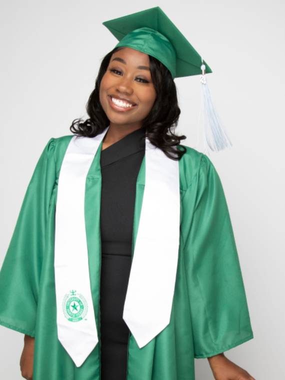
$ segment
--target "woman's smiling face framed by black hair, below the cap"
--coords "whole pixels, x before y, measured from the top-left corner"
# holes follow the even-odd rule
[[[99,98],[111,123],[141,124],[156,98],[148,55],[130,47],[114,52],[100,83]]]

